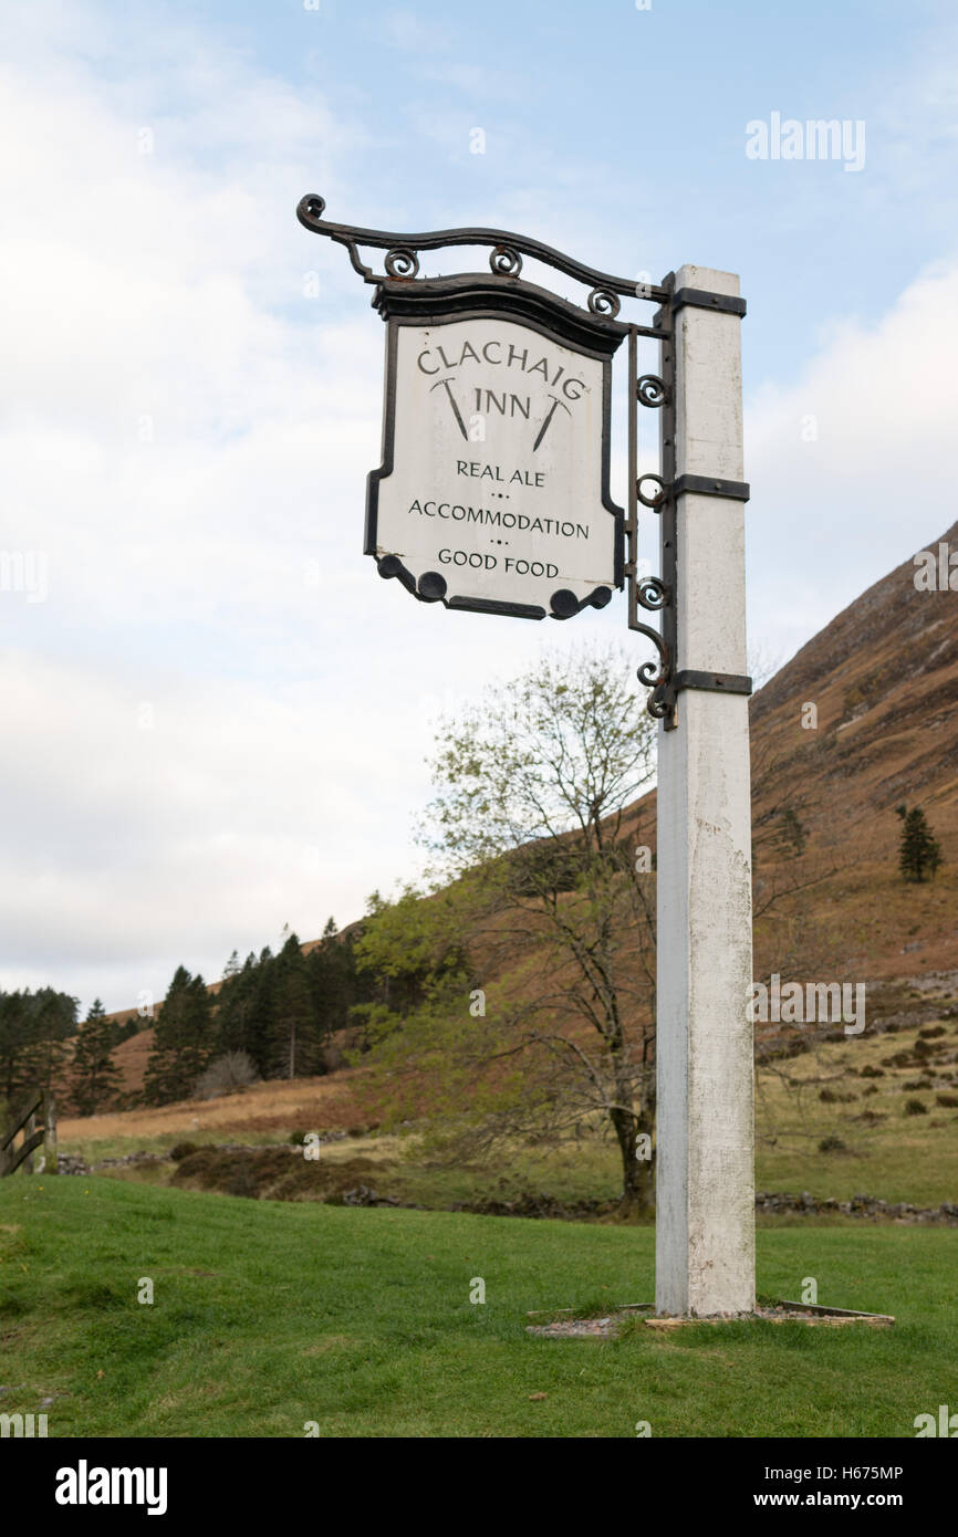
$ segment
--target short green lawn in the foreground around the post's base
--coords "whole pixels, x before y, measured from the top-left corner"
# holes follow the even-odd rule
[[[958,1231],[761,1231],[760,1291],[893,1330],[541,1340],[529,1310],[652,1299],[649,1228],[0,1183],[5,1413],[49,1436],[913,1436],[958,1403]],[[140,1277],[155,1286],[137,1302]],[[486,1303],[469,1303],[481,1276]],[[546,1399],[534,1402],[532,1394]]]

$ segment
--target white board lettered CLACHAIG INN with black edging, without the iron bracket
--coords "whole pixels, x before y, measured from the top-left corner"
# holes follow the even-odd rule
[[[621,586],[609,361],[515,318],[391,323],[368,553],[424,601],[569,618]]]

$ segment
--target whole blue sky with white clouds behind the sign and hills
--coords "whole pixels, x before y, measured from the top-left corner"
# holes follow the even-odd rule
[[[837,157],[773,155],[809,118]],[[741,275],[767,662],[955,518],[956,161],[947,0],[6,0],[0,987],[126,1008],[351,922],[420,870],[443,713],[637,644],[621,595],[534,624],[377,578],[384,327],[303,194]]]

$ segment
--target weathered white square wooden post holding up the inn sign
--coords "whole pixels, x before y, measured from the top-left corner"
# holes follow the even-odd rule
[[[675,287],[738,295],[684,266]],[[675,315],[675,475],[743,480],[738,315]],[[677,506],[678,669],[747,673],[744,504]],[[655,1306],[755,1306],[749,701],[684,689],[658,735]]]

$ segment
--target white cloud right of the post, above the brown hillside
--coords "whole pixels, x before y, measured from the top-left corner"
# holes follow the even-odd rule
[[[955,521],[956,349],[958,264],[938,263],[877,324],[843,324],[795,384],[750,401],[750,613],[775,650]]]

